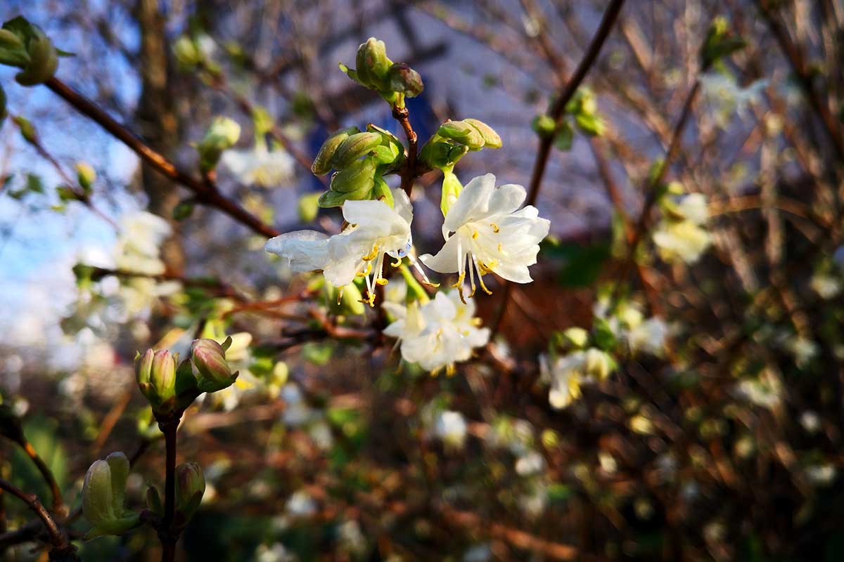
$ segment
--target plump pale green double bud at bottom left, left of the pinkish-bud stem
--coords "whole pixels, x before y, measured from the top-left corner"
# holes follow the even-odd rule
[[[93,526],[86,540],[122,535],[140,525],[138,513],[123,506],[128,477],[129,459],[122,452],[112,452],[90,466],[82,484],[82,512]]]

